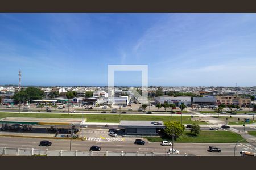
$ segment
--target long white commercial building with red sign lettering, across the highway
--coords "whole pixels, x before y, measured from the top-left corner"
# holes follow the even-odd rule
[[[155,97],[155,104],[176,104],[177,106],[181,104],[185,104],[187,106],[191,105],[191,96],[177,96],[177,97],[172,97],[168,95],[163,95],[159,97]]]

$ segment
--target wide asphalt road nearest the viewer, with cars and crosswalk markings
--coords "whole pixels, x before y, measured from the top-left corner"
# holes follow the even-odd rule
[[[52,145],[49,147],[38,146],[39,142],[44,140],[37,138],[20,137],[0,137],[0,147],[11,148],[37,148],[49,150],[69,150],[70,141],[65,139],[51,139]],[[135,145],[133,142],[113,142],[113,141],[76,141],[72,140],[72,150],[89,151],[92,145],[101,147],[101,151],[114,152],[152,152],[166,153],[171,146],[161,146],[160,143],[148,143]],[[208,152],[209,146],[221,148],[221,153]],[[235,143],[174,143],[174,148],[181,154],[187,153],[197,156],[233,156]],[[238,143],[236,147],[236,156],[240,156],[240,151],[250,151],[256,154],[255,143]]]

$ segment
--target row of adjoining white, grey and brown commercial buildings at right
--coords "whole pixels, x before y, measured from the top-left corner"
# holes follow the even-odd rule
[[[251,103],[250,97],[238,97],[238,96],[204,96],[204,97],[191,97],[191,96],[177,96],[172,97],[163,95],[155,97],[155,103],[158,104],[176,104],[177,106],[185,104],[191,106],[197,105],[239,105],[240,107],[249,107]]]

